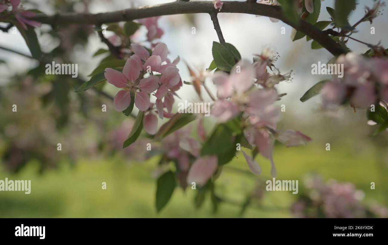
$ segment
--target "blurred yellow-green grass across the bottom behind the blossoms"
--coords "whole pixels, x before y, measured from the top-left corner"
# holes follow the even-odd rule
[[[331,151],[317,142],[304,147],[275,147],[277,179],[298,179],[320,173],[324,179],[350,181],[365,193],[365,201],[387,205],[388,183],[384,166],[374,159],[374,152],[351,150],[332,145]],[[244,148],[243,148],[244,149]],[[246,150],[246,149],[244,149]],[[270,177],[270,163],[261,156],[262,178]],[[258,178],[249,173],[242,154],[227,164],[216,181],[216,191],[230,203],[222,203],[213,214],[210,198],[201,209],[193,204],[195,191],[176,188],[173,197],[159,214],[154,208],[156,181],[151,177],[158,159],[130,162],[122,156],[109,159],[82,159],[76,165],[62,162],[58,169],[38,173],[31,162],[20,173],[11,175],[3,169],[0,179],[31,179],[31,194],[0,192],[0,217],[239,217],[246,194],[255,188]],[[238,169],[238,170],[236,170]],[[376,190],[370,189],[371,182]],[[102,182],[107,190],[102,190]],[[289,207],[296,195],[291,192],[265,192],[260,205],[249,207],[243,217],[292,217]]]

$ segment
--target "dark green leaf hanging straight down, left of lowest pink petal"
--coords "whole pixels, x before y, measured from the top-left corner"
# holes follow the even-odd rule
[[[170,200],[176,186],[174,173],[168,171],[156,183],[156,211],[160,212]]]

